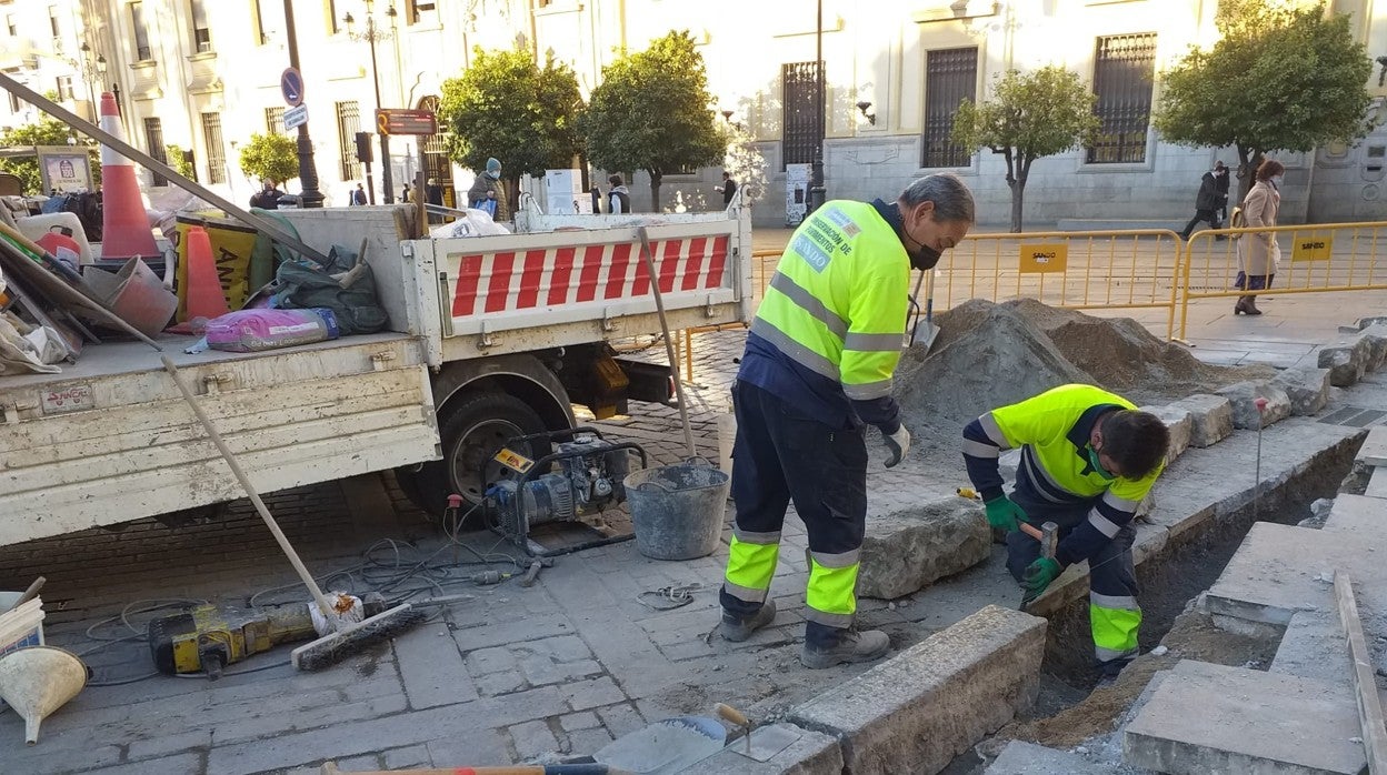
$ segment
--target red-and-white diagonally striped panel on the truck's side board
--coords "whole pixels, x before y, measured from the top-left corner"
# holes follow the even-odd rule
[[[723,288],[731,237],[653,240],[660,291]],[[531,251],[454,254],[452,317],[542,311],[583,302],[646,298],[651,276],[639,243],[599,243]],[[451,266],[449,266],[451,268]]]

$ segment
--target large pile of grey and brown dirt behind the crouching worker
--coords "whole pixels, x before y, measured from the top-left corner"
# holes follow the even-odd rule
[[[972,299],[940,313],[927,354],[908,349],[896,398],[911,428],[968,423],[996,406],[1067,383],[1089,383],[1136,403],[1165,403],[1270,377],[1269,366],[1215,366],[1128,317],[1093,317],[1035,299]]]

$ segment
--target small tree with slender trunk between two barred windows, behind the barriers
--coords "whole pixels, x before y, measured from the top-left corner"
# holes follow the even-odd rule
[[[1096,97],[1078,75],[1058,65],[1032,73],[1008,69],[992,92],[990,101],[958,104],[951,139],[970,151],[988,148],[1007,159],[1011,230],[1019,232],[1031,165],[1092,140],[1099,129]]]

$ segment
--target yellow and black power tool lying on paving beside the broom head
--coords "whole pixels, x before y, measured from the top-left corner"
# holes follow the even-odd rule
[[[333,596],[329,595],[329,600]],[[226,665],[251,654],[268,652],[280,643],[318,638],[309,606],[288,603],[259,610],[219,606],[196,606],[183,613],[150,621],[148,641],[154,667],[165,675],[205,672],[212,681]],[[347,609],[350,602],[344,602]],[[363,616],[386,609],[379,595],[362,600]],[[345,609],[344,609],[345,610]]]

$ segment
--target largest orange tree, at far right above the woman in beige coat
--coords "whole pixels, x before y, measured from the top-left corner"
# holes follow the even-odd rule
[[[1348,22],[1318,1],[1222,0],[1222,39],[1162,73],[1155,128],[1180,146],[1236,147],[1239,198],[1268,154],[1363,137],[1372,61]]]

